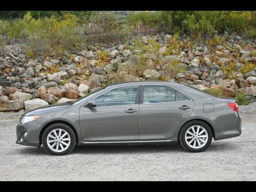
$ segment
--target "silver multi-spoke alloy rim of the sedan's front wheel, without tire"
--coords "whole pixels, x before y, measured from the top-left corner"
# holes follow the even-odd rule
[[[47,145],[54,152],[63,152],[70,145],[70,135],[64,129],[54,129],[47,136]]]

